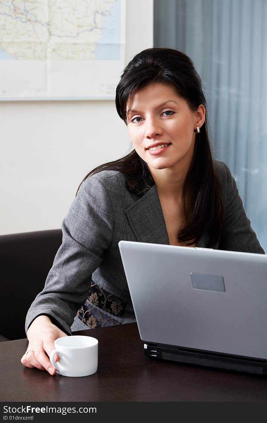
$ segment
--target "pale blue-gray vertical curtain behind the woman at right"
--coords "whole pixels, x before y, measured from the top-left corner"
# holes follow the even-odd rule
[[[185,52],[207,98],[214,157],[229,166],[267,252],[267,0],[154,0],[154,46]]]

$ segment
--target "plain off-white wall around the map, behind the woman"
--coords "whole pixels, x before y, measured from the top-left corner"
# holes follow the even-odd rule
[[[126,59],[153,47],[153,0],[128,0]],[[114,101],[0,102],[0,234],[60,228],[83,177],[130,150]]]

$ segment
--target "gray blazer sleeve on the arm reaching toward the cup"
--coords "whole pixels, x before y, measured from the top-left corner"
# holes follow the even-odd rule
[[[62,223],[63,240],[41,291],[26,316],[25,330],[40,315],[47,315],[71,334],[77,310],[84,304],[92,273],[103,260],[113,237],[113,209],[104,185],[96,176],[80,187]]]

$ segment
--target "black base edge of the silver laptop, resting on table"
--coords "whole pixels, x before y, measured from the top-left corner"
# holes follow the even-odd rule
[[[267,375],[266,360],[251,357],[221,354],[178,346],[166,346],[164,344],[150,342],[144,344],[144,354],[147,357],[159,360]]]

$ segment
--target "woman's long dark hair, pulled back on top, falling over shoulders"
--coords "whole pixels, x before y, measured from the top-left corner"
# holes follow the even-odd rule
[[[116,89],[117,113],[125,124],[129,97],[153,82],[172,85],[192,111],[197,110],[200,104],[206,109],[205,122],[200,133],[196,133],[193,159],[183,186],[185,222],[177,234],[177,240],[197,242],[202,233],[207,232],[207,246],[211,247],[218,242],[223,229],[223,203],[208,136],[207,104],[201,79],[192,60],[183,52],[168,48],[143,50],[125,67]],[[133,150],[121,159],[91,170],[82,182],[102,170],[117,170],[124,173],[128,180],[136,180],[142,178],[148,168],[146,162]]]

